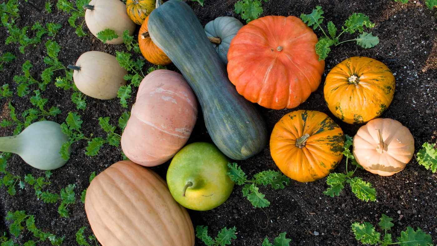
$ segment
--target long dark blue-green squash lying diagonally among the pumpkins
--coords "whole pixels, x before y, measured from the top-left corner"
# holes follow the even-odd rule
[[[229,81],[194,11],[170,0],[152,11],[147,25],[152,41],[193,88],[215,145],[234,160],[259,153],[268,138],[264,119]]]

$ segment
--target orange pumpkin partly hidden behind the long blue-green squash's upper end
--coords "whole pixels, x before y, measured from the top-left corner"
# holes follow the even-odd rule
[[[147,28],[147,21],[149,16],[146,17],[144,22],[139,29],[138,34],[138,44],[142,55],[146,60],[155,65],[168,65],[171,63],[170,58],[163,52],[162,49],[158,48],[156,44],[150,39],[149,29]]]

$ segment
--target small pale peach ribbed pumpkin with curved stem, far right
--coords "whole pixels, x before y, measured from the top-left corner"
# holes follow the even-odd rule
[[[354,157],[367,171],[390,176],[402,171],[414,154],[414,138],[395,119],[372,119],[354,136]]]

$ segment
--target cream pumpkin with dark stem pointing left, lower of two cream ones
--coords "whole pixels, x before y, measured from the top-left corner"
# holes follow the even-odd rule
[[[124,76],[128,71],[120,67],[115,56],[100,51],[83,53],[76,61],[73,69],[73,81],[85,95],[97,99],[117,97],[118,88],[126,85]]]

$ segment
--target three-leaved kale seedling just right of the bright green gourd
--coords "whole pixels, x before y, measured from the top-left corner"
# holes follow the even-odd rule
[[[253,179],[247,179],[246,173],[241,170],[241,168],[236,163],[228,163],[229,172],[228,175],[232,181],[234,181],[237,185],[243,185],[243,196],[247,197],[247,200],[254,207],[268,207],[270,202],[265,199],[266,195],[260,193],[257,187],[258,185],[270,184],[272,188],[275,190],[281,188],[284,189],[284,185],[288,185],[290,183],[290,178],[282,174],[281,172],[276,172],[272,170],[258,172],[253,175]]]

